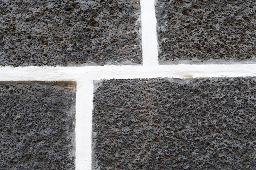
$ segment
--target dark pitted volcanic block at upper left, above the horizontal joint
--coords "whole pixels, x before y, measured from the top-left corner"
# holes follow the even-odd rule
[[[139,0],[0,0],[0,66],[141,64]]]

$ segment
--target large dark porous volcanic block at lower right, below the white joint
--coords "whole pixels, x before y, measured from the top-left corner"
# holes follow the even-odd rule
[[[255,170],[256,78],[102,80],[98,170]]]

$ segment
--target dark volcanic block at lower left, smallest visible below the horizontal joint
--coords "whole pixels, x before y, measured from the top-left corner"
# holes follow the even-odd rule
[[[0,82],[0,169],[75,170],[76,84]]]

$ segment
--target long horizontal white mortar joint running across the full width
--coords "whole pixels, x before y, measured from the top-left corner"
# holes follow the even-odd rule
[[[256,64],[0,68],[0,81],[79,81],[81,79],[256,76]]]

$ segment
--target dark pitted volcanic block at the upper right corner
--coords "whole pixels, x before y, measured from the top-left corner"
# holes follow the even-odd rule
[[[256,62],[255,0],[156,0],[159,61]]]

